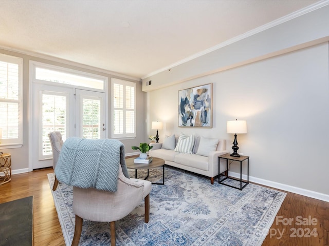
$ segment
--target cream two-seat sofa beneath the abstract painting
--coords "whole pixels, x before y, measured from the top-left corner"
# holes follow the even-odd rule
[[[179,137],[174,135],[166,136],[163,143],[151,143],[150,146],[153,146],[153,148],[150,150],[149,155],[164,159],[166,165],[210,177],[213,184],[214,177],[218,175],[218,156],[229,153],[226,150],[226,140],[194,136],[192,151],[190,153],[181,153],[186,152],[184,150],[177,151],[179,150],[177,146],[181,135],[184,134],[181,133]],[[168,145],[169,138],[171,138],[171,145]],[[226,172],[225,159],[221,159],[220,165],[221,171]]]

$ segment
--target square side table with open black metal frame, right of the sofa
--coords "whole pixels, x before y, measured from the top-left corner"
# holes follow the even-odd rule
[[[221,158],[226,159],[226,170],[227,171],[228,171],[228,161],[229,160],[240,161],[240,180],[239,180],[240,181],[240,188],[228,185],[227,183],[224,183],[224,181],[226,179],[232,179],[232,180],[237,180],[237,179],[229,178],[228,174],[227,175],[221,174],[221,169],[220,169],[220,160],[221,160]],[[244,160],[247,160],[247,182],[242,181],[242,162]],[[218,183],[221,183],[222,185],[229,186],[229,187],[239,189],[239,190],[242,191],[242,189],[245,188],[246,185],[248,185],[248,183],[249,183],[249,156],[243,156],[242,155],[240,157],[234,157],[234,156],[231,156],[230,154],[225,154],[225,155],[218,156],[218,173],[220,173],[220,174],[218,174]],[[221,176],[224,176],[225,178],[223,178],[221,180]],[[242,186],[242,183],[244,183],[244,186]]]

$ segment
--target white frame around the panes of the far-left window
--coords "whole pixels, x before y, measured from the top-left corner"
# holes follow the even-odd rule
[[[0,98],[1,102],[14,103],[18,105],[17,138],[0,139],[0,149],[21,148],[23,146],[23,58],[0,54],[0,60],[4,63],[18,65],[18,99]]]

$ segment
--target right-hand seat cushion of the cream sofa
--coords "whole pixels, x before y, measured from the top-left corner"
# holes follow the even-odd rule
[[[175,155],[175,162],[191,168],[200,170],[209,170],[209,157],[196,154],[179,154]]]

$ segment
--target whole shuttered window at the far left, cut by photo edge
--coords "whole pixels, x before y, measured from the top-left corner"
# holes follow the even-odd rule
[[[0,54],[0,148],[22,147],[23,59]]]

